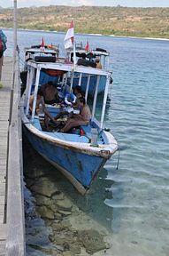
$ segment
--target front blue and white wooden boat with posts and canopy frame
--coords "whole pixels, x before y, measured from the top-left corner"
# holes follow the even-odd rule
[[[92,115],[88,125],[80,127],[81,134],[72,132],[46,132],[42,130],[40,117],[35,115],[36,95],[40,84],[41,70],[50,69],[64,71],[63,76],[58,76],[58,85],[64,87],[67,78],[71,78],[70,89],[73,88],[73,74],[76,72],[81,77],[88,75],[85,98],[88,100],[88,89],[91,76],[96,76],[95,94],[92,104]],[[96,120],[96,100],[100,77],[106,80],[103,108],[100,121]],[[104,167],[106,161],[118,150],[117,141],[110,132],[104,129],[104,112],[108,95],[111,73],[98,68],[73,66],[71,63],[27,61],[27,87],[23,94],[22,122],[24,134],[35,150],[57,169],[64,173],[75,188],[84,195],[95,180],[97,173]],[[62,79],[61,79],[62,78]],[[29,113],[29,99],[34,91],[35,100],[33,111]],[[56,116],[61,111],[58,106],[47,106],[50,115]],[[75,132],[77,133],[77,131]]]

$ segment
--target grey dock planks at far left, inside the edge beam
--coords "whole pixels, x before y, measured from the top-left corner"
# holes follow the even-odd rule
[[[4,58],[2,73],[3,88],[0,89],[0,255],[5,255],[6,224],[4,216],[7,144],[12,87],[12,58]]]

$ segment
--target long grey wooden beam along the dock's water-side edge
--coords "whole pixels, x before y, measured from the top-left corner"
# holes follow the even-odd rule
[[[18,57],[13,65],[13,69],[6,175],[6,255],[25,256],[24,182]]]

